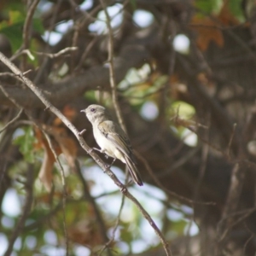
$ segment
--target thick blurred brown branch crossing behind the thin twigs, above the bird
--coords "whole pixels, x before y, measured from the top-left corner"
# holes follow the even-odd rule
[[[140,67],[147,57],[148,52],[142,46],[126,46],[119,57],[113,61],[116,82],[119,83],[124,79],[125,74],[131,67]],[[39,87],[44,91],[50,102],[55,102],[55,105],[65,104],[80,96],[84,90],[96,90],[99,87],[103,90],[109,90],[108,67],[92,67],[89,71],[75,77],[71,76],[50,85],[41,84]],[[24,90],[19,87],[5,87],[5,90],[24,108],[44,107],[44,104],[31,90]],[[12,105],[12,102],[1,91],[0,102],[2,105]]]

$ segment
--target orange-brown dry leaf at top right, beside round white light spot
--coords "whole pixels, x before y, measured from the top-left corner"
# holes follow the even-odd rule
[[[192,25],[195,26],[194,29],[197,32],[196,44],[201,50],[205,51],[211,42],[219,47],[224,45],[223,34],[212,19],[195,16],[192,19]]]

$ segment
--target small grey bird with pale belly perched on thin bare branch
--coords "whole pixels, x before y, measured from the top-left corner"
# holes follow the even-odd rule
[[[139,186],[143,186],[130,140],[119,124],[112,120],[108,110],[100,105],[94,104],[81,110],[81,112],[86,114],[92,125],[96,143],[101,147],[99,151],[113,157],[113,162],[119,159],[125,163],[134,182]]]

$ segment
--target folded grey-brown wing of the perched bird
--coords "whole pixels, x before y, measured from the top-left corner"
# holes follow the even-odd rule
[[[131,143],[125,132],[121,130],[119,126],[114,125],[113,121],[106,120],[101,122],[98,125],[98,128],[102,134],[116,146],[116,148],[118,148],[130,160],[135,161],[131,151]]]

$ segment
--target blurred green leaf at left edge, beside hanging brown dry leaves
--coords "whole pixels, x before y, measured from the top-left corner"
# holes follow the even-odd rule
[[[25,160],[29,163],[33,163],[35,160],[33,145],[36,142],[32,126],[23,128],[24,134],[16,137],[14,140],[15,145],[20,146],[20,153],[23,154]]]

